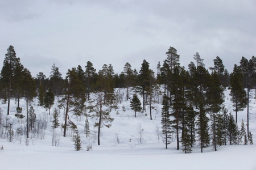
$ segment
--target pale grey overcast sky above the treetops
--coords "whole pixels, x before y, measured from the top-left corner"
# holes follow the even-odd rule
[[[0,0],[0,62],[13,45],[33,76],[87,61],[121,73],[146,59],[156,71],[172,46],[186,68],[198,52],[207,68],[219,56],[232,71],[256,56],[255,29],[255,0]]]

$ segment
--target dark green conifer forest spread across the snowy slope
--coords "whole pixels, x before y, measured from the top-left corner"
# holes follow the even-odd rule
[[[86,137],[90,134],[88,118],[96,118],[93,126],[97,128],[97,145],[101,145],[101,129],[110,128],[115,121],[110,113],[116,111],[122,101],[129,101],[134,117],[144,113],[150,120],[154,120],[155,105],[162,105],[159,111],[162,126],[158,133],[166,149],[174,136],[176,150],[181,149],[185,154],[191,153],[196,145],[200,146],[201,152],[210,146],[217,151],[218,146],[223,145],[253,145],[249,119],[250,91],[256,87],[256,57],[241,57],[233,72],[228,73],[218,56],[213,59],[212,67],[205,68],[204,59],[196,53],[195,60],[185,70],[174,47],[167,49],[166,55],[162,65],[160,61],[156,64],[156,73],[149,69],[150,63],[144,59],[141,68],[137,69],[126,62],[119,74],[114,73],[111,63],[96,71],[93,63],[88,61],[85,66],[68,69],[66,75],[62,75],[53,63],[49,77],[44,75],[44,70],[32,77],[22,65],[22,58],[16,57],[14,47],[9,46],[0,76],[0,98],[2,104],[7,104],[7,112],[0,116],[0,138],[12,142],[14,132],[26,135],[27,139],[40,133],[44,124],[36,121],[35,111],[30,106],[37,100],[38,105],[53,116],[53,129],[61,127],[63,137],[72,131],[76,150],[81,150],[81,139],[71,116],[86,118]],[[124,90],[124,95],[120,89]],[[226,90],[230,90],[235,116],[224,105]],[[56,108],[51,113],[56,97],[58,108],[64,111],[63,122],[57,119]],[[24,129],[14,131],[11,125],[5,124],[3,116],[10,114],[12,99],[16,101],[15,117],[26,119]],[[21,99],[26,100],[26,111],[20,107]],[[246,109],[247,120],[238,125],[238,112]],[[125,107],[122,111],[125,112]],[[139,126],[138,133],[142,132]],[[142,143],[142,138],[138,142]],[[87,149],[90,147],[88,145]]]

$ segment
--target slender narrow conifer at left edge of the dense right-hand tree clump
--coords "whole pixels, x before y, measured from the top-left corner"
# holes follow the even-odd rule
[[[171,138],[171,121],[170,121],[170,113],[169,113],[169,108],[170,105],[168,103],[168,97],[166,94],[163,95],[163,108],[162,108],[162,119],[161,119],[161,124],[162,124],[162,131],[164,135],[164,143],[166,144],[166,149],[167,145],[170,144],[170,141],[168,139]]]

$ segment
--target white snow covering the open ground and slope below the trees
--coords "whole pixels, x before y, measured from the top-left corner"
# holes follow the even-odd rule
[[[121,92],[125,94],[125,89]],[[111,116],[114,118],[112,127],[103,128],[101,131],[101,145],[94,143],[93,137],[86,138],[84,134],[85,117],[77,118],[69,113],[72,121],[77,125],[80,131],[82,141],[81,151],[76,151],[72,142],[71,134],[67,133],[67,137],[63,137],[61,129],[57,128],[56,133],[59,135],[59,146],[52,146],[51,126],[52,123],[49,112],[43,107],[38,106],[37,99],[32,105],[35,109],[37,118],[46,118],[47,128],[45,137],[41,139],[30,139],[29,145],[26,146],[24,137],[21,141],[14,140],[13,143],[6,139],[0,139],[0,147],[3,145],[3,150],[0,150],[0,169],[256,169],[256,104],[254,99],[255,91],[252,90],[250,102],[250,130],[253,134],[254,145],[226,145],[218,147],[217,151],[213,151],[212,147],[204,148],[204,152],[200,152],[200,147],[192,148],[191,154],[184,154],[183,151],[176,150],[175,137],[172,143],[165,149],[165,145],[155,135],[155,126],[161,127],[161,104],[154,104],[158,108],[158,113],[152,110],[152,118],[150,120],[149,112],[137,113],[134,117],[134,112],[130,110],[130,101],[125,100],[118,105],[117,111],[112,111]],[[132,97],[132,94],[130,95]],[[141,96],[139,96],[141,99]],[[142,101],[142,99],[141,99]],[[232,112],[232,103],[229,97],[229,90],[225,91],[225,103],[229,112]],[[51,109],[57,108],[57,97],[55,105]],[[126,111],[122,111],[122,106],[125,106]],[[24,125],[25,118],[22,122],[18,122],[14,116],[16,101],[11,100],[10,115],[7,116],[7,104],[1,104],[0,108],[3,113],[3,120],[9,119],[13,124],[13,129],[16,130],[20,125]],[[26,102],[20,100],[20,107],[23,108],[23,115],[26,115]],[[147,108],[148,109],[148,108]],[[238,127],[241,126],[242,119],[246,124],[246,109],[238,113]],[[93,136],[97,133],[97,129],[93,128],[95,118],[89,118],[90,133]],[[60,109],[59,122],[63,122],[63,110]],[[143,143],[137,141],[137,126],[141,124],[143,128]],[[119,137],[119,144],[116,142],[116,134]],[[180,135],[181,136],[181,135]],[[89,142],[93,142],[92,150],[86,151]],[[182,147],[181,147],[182,148]]]

